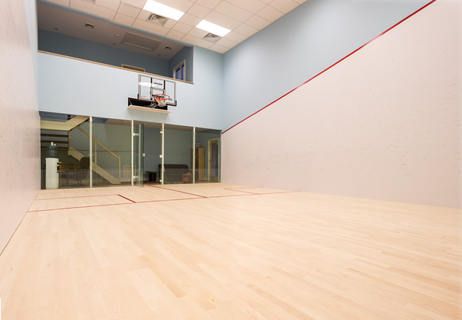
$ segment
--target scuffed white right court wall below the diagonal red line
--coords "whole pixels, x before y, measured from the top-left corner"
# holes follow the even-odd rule
[[[222,181],[461,207],[461,4],[438,0],[222,134]]]

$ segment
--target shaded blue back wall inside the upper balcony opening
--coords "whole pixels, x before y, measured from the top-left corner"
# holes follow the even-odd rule
[[[106,46],[60,33],[38,30],[38,49],[70,57],[96,61],[121,67],[122,63],[145,68],[146,73],[171,77],[168,60],[141,55],[127,50]]]

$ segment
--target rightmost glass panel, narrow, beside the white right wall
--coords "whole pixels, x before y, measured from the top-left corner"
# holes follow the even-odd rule
[[[220,130],[195,128],[196,183],[220,182]]]

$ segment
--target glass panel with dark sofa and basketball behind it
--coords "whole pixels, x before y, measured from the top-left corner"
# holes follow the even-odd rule
[[[193,183],[193,128],[166,124],[164,136],[163,183]]]

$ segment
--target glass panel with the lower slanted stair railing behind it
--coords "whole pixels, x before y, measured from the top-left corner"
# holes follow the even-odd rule
[[[131,121],[92,119],[93,187],[131,184]]]

